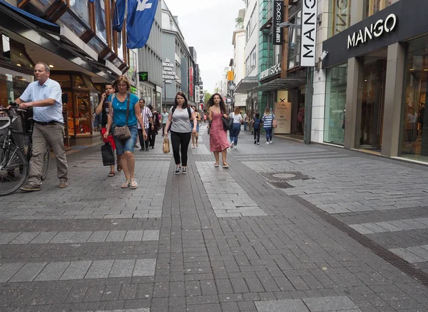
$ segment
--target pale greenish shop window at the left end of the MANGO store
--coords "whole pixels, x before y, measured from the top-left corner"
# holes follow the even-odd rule
[[[327,69],[324,141],[343,145],[345,139],[347,64]]]

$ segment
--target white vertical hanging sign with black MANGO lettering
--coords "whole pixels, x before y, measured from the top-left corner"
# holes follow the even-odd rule
[[[302,42],[300,44],[300,66],[315,66],[317,43],[317,0],[302,1]]]

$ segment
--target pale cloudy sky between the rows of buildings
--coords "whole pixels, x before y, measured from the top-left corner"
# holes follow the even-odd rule
[[[203,89],[213,93],[225,66],[233,58],[232,36],[243,0],[165,0],[188,46],[198,54]]]

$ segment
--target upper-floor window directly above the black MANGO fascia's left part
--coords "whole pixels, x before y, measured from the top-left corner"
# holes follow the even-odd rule
[[[344,31],[351,26],[351,2],[351,0],[330,0],[330,12],[332,12],[332,14],[330,14],[328,38],[335,36],[335,34],[339,34],[340,31]]]

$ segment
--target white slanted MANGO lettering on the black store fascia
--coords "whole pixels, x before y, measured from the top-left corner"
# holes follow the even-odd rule
[[[395,29],[395,26],[397,26],[397,16],[395,14],[389,14],[386,19],[378,19],[370,26],[348,35],[347,49],[354,48],[359,44],[365,44],[367,41],[389,33]]]

